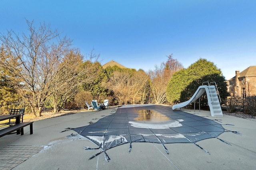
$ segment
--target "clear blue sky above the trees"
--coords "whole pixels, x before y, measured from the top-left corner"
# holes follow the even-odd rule
[[[185,68],[203,58],[226,79],[256,65],[255,0],[0,0],[0,33],[46,22],[82,54],[154,69],[173,54]]]

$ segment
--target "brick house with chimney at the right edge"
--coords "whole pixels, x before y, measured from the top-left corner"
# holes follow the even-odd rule
[[[236,70],[236,76],[227,80],[227,88],[233,97],[256,95],[256,66],[249,66],[242,72]]]

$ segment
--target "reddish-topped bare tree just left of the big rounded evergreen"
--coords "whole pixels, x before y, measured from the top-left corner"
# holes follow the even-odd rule
[[[166,102],[166,87],[172,74],[183,68],[182,64],[177,59],[172,58],[172,54],[167,56],[168,60],[162,62],[160,67],[155,66],[155,70],[150,70],[148,74],[151,79],[151,96],[153,97],[153,103],[163,104]]]

